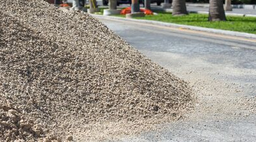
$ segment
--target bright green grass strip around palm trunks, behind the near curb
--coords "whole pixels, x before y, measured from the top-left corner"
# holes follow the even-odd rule
[[[103,9],[100,11],[103,12]],[[216,28],[256,34],[256,17],[226,16],[227,21],[210,22],[208,21],[207,14],[189,14],[177,17],[172,16],[169,12],[156,11],[156,13],[157,15],[146,15],[145,17],[135,17],[135,19],[162,21],[181,25],[201,26],[205,28]],[[113,16],[125,17],[125,15]]]

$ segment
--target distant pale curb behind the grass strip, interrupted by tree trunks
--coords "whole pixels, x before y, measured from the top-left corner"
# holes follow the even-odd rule
[[[164,12],[172,12],[172,9],[161,9],[161,8],[152,8],[152,10],[161,10]],[[205,12],[205,11],[190,11],[188,10],[187,12],[189,12],[190,14],[209,14],[209,12]],[[233,14],[233,13],[228,13],[226,12],[226,15],[230,15],[230,16],[242,16],[242,17],[256,17],[256,14]]]

